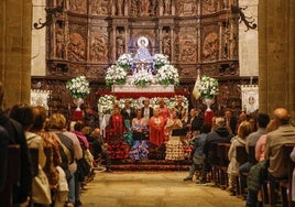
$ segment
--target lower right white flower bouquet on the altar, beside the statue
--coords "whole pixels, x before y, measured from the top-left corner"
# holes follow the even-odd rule
[[[155,79],[160,85],[178,85],[179,76],[177,69],[172,65],[162,66],[156,75]]]

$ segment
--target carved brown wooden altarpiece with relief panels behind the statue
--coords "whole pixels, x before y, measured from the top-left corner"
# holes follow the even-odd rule
[[[96,106],[96,91],[106,90],[106,68],[123,53],[134,53],[140,36],[151,55],[163,53],[178,69],[178,90],[192,91],[198,70],[219,80],[218,101],[240,97],[236,0],[47,0],[63,6],[46,31],[46,77],[32,87],[53,91],[50,107],[70,108],[65,81],[78,75],[90,80],[86,102]],[[40,85],[40,83],[42,83]],[[219,108],[220,108],[219,106]]]

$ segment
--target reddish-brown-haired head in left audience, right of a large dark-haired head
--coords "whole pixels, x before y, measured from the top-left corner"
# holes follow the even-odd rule
[[[33,107],[34,113],[34,123],[30,128],[30,131],[41,131],[45,128],[46,119],[47,119],[47,111],[44,107],[36,106]]]

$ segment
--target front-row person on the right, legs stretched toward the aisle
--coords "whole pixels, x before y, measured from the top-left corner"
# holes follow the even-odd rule
[[[189,167],[188,176],[184,178],[184,181],[193,181],[195,171],[203,164],[204,159],[205,159],[203,149],[207,139],[207,134],[210,131],[211,131],[211,126],[209,123],[205,123],[200,128],[200,133],[196,138],[194,138],[194,148],[190,153],[190,156],[193,157],[193,162]]]

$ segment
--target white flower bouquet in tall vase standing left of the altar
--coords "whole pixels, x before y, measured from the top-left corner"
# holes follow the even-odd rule
[[[85,76],[78,76],[68,80],[66,83],[66,89],[74,99],[85,98],[90,92],[89,81]]]

